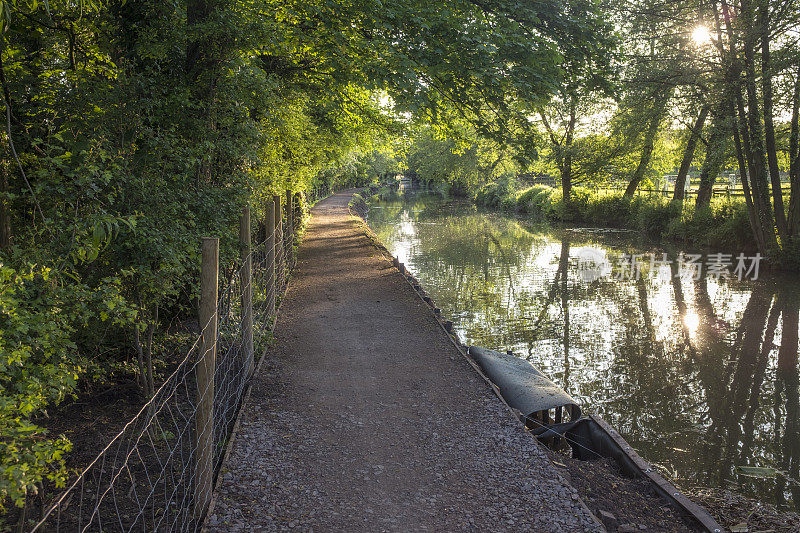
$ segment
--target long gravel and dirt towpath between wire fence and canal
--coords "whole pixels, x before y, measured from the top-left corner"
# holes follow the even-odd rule
[[[598,530],[350,196],[313,210],[208,530]]]

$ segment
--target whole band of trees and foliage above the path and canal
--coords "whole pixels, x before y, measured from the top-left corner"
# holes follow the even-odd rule
[[[677,169],[683,216],[693,176],[704,209],[728,173],[755,247],[800,249],[792,0],[0,2],[7,506],[64,479],[69,442],[32,420],[141,381],[141,333],[195,312],[199,237],[236,257],[242,207],[273,194],[407,172],[547,178],[567,205]]]

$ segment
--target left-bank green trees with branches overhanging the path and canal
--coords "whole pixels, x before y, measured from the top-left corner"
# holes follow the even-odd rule
[[[31,420],[141,381],[145,350],[156,369],[179,353],[201,236],[230,265],[242,207],[258,220],[274,194],[405,170],[471,194],[519,172],[565,57],[608,63],[600,17],[590,0],[3,1],[5,503],[63,481],[69,443]]]

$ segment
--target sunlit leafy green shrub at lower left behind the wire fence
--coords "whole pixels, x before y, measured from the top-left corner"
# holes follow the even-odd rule
[[[117,278],[91,290],[41,267],[0,265],[0,504],[21,505],[45,478],[63,486],[70,442],[31,419],[72,395],[90,365],[76,342],[85,324],[130,322],[120,291]]]

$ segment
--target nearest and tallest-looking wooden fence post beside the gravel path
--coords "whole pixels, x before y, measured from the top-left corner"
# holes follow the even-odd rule
[[[196,442],[193,515],[198,521],[202,520],[211,502],[214,479],[214,369],[217,356],[218,279],[219,239],[203,237],[198,313],[202,334],[195,367],[197,411],[194,418]]]

